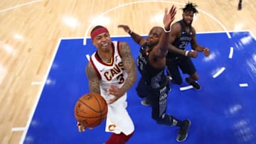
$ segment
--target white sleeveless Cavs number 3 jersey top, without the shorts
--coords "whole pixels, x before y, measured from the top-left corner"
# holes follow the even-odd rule
[[[97,52],[93,53],[90,57],[92,67],[94,67],[97,76],[100,79],[100,93],[107,99],[107,89],[110,84],[117,87],[122,87],[127,79],[127,72],[124,71],[122,57],[119,55],[119,42],[112,42],[113,55],[112,62],[105,63],[100,60]]]

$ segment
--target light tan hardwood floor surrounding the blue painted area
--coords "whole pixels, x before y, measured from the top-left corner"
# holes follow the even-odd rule
[[[132,0],[1,0],[0,2],[0,143],[18,143],[41,94],[60,38],[88,36],[101,24],[112,35],[128,24],[137,33],[162,26],[166,6],[181,8],[187,1]],[[199,14],[197,32],[243,31],[256,35],[256,1],[194,0]],[[181,18],[178,11],[176,20]],[[101,20],[101,21],[100,21]],[[214,40],[213,40],[214,43]]]

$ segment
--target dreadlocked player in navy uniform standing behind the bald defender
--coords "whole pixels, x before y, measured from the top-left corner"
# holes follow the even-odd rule
[[[198,45],[196,41],[196,30],[191,25],[193,22],[194,14],[198,13],[196,9],[196,4],[188,2],[186,6],[182,9],[183,19],[174,23],[171,26],[171,44],[177,49],[186,50],[188,43],[191,43],[191,48],[193,50],[186,50],[185,55],[180,55],[169,51],[166,57],[167,72],[172,78],[174,84],[182,84],[181,74],[178,70],[180,68],[184,74],[188,74],[186,77],[186,82],[191,84],[195,89],[201,89],[197,80],[199,79],[196,72],[196,68],[193,65],[190,57],[197,57],[197,52],[203,52],[203,55],[208,57],[210,55],[210,50],[206,47]]]

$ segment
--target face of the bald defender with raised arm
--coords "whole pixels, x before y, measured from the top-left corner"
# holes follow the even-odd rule
[[[149,36],[146,38],[146,45],[149,45],[150,47],[157,45],[159,43],[159,38],[161,36],[162,30],[161,28],[152,28],[151,31],[149,31]]]

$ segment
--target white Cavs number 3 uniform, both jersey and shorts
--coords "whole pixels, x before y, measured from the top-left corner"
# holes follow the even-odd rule
[[[119,55],[119,42],[112,41],[113,55],[110,63],[105,63],[100,60],[97,52],[90,57],[92,67],[94,67],[97,77],[100,79],[100,95],[105,100],[111,99],[113,96],[107,94],[107,89],[110,84],[117,87],[122,87],[127,79],[127,72],[124,70],[122,57]],[[129,135],[134,131],[134,123],[127,112],[127,93],[121,96],[117,101],[108,104],[107,120],[105,131],[112,133],[124,133]]]

